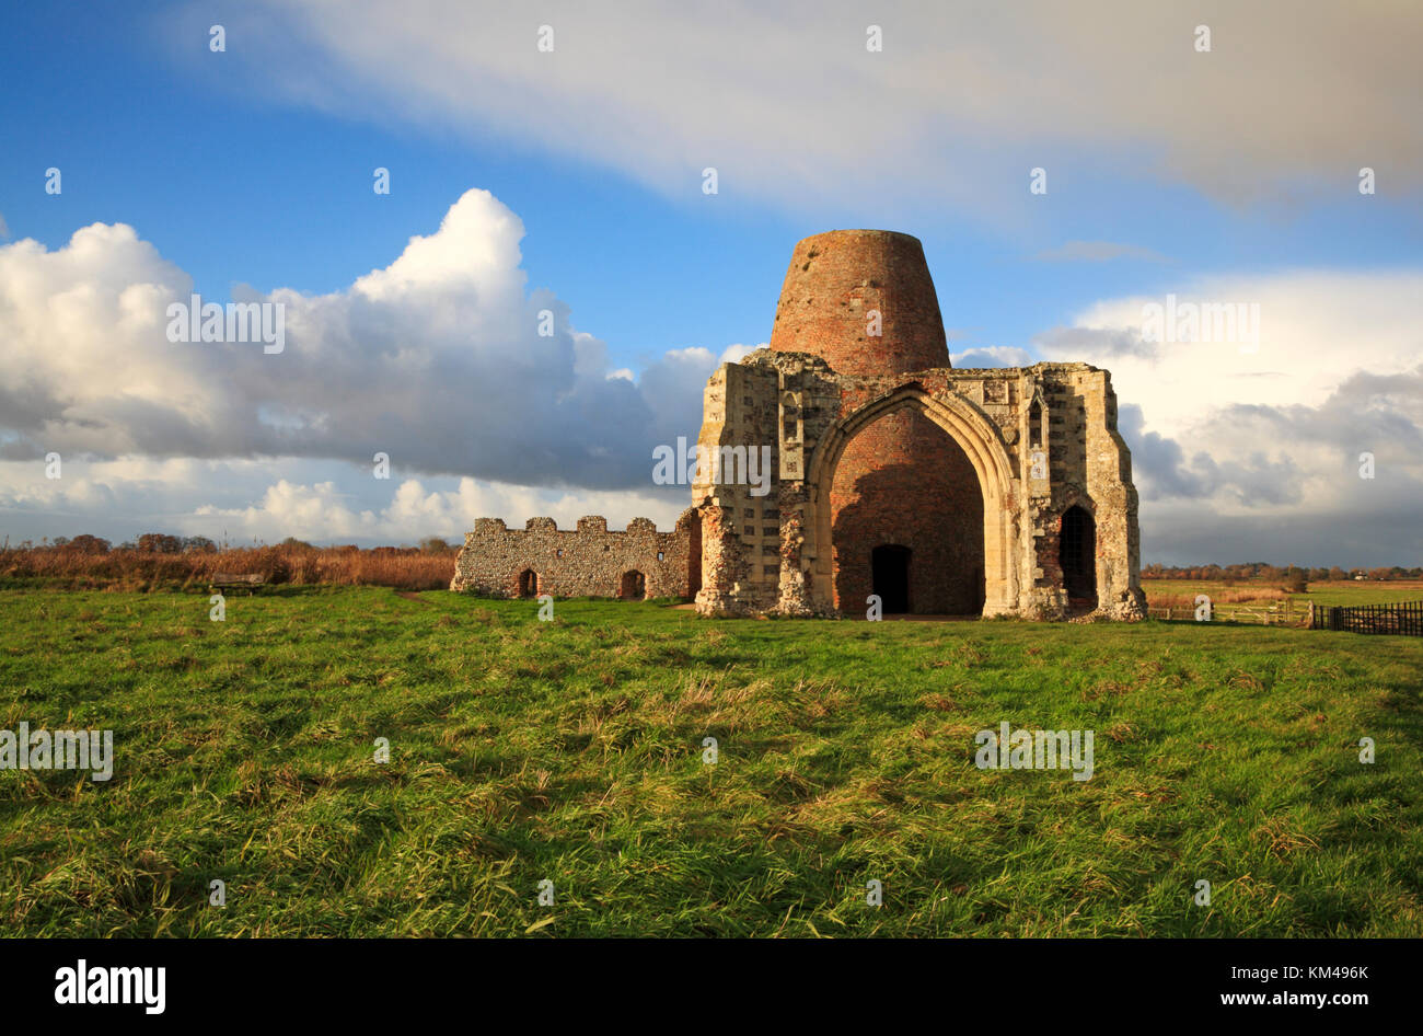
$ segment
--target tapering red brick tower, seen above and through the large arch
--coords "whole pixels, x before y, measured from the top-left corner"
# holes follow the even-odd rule
[[[785,272],[770,346],[861,377],[948,367],[919,239],[891,231],[805,238]],[[835,465],[830,507],[842,612],[864,615],[871,593],[885,613],[982,610],[983,492],[968,455],[929,417],[896,410],[855,435]]]

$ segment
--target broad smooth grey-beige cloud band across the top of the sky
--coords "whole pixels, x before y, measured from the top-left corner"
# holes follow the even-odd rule
[[[1127,0],[872,13],[841,0],[734,4],[710,21],[676,4],[541,11],[554,56],[535,51],[536,23],[514,6],[268,0],[231,16],[243,47],[223,74],[248,63],[248,80],[283,100],[454,125],[667,194],[713,164],[784,205],[868,205],[875,218],[932,195],[961,215],[1017,219],[1043,155],[1232,204],[1326,196],[1362,164],[1402,192],[1423,184],[1423,11],[1410,4],[1202,0],[1187,16]],[[211,21],[196,3],[185,17],[175,47]],[[869,20],[882,54],[865,51]],[[1210,54],[1192,47],[1200,23]]]

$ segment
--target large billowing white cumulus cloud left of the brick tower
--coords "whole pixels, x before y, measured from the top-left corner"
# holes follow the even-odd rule
[[[169,342],[166,307],[188,302],[192,278],[124,223],[54,250],[0,246],[0,458],[386,453],[435,475],[647,485],[652,447],[696,434],[687,401],[719,357],[683,349],[636,376],[610,369],[565,303],[528,290],[522,236],[497,198],[468,191],[347,290],[245,295],[285,307],[275,354]]]

